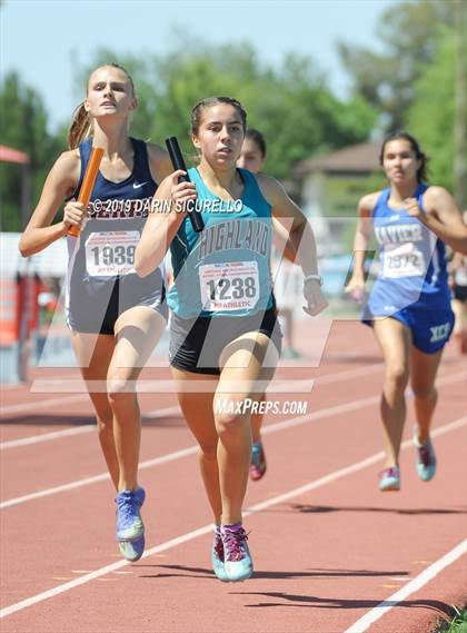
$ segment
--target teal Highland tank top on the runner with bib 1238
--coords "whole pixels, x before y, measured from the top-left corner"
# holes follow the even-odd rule
[[[238,171],[241,198],[221,200],[196,168],[188,170],[205,228],[195,233],[186,217],[170,246],[175,283],[168,305],[180,318],[252,316],[274,305],[271,206],[256,177]]]

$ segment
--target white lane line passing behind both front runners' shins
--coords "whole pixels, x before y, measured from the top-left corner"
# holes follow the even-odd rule
[[[459,374],[454,374],[453,376],[446,376],[441,378],[438,384],[448,384],[455,383],[459,378],[464,378],[464,372]],[[277,433],[278,431],[282,431],[285,428],[291,428],[294,426],[299,426],[301,424],[307,424],[309,422],[316,422],[318,419],[325,419],[327,417],[331,417],[334,415],[348,413],[351,411],[357,411],[364,408],[366,406],[371,406],[379,402],[380,396],[370,396],[368,398],[359,398],[357,400],[352,400],[350,403],[344,405],[337,405],[335,407],[327,407],[324,409],[316,411],[311,414],[302,415],[299,417],[294,417],[291,419],[286,419],[284,422],[278,422],[276,424],[269,424],[262,428],[264,434],[268,433]],[[443,428],[443,427],[441,427]],[[436,436],[435,429],[431,435]],[[151,468],[152,466],[157,466],[159,464],[167,464],[168,462],[173,462],[176,459],[180,459],[182,457],[187,457],[189,455],[196,454],[198,451],[198,446],[189,446],[187,448],[182,448],[181,451],[176,451],[173,453],[168,453],[167,455],[162,455],[160,457],[155,457],[153,459],[148,459],[146,462],[141,462],[139,465],[139,469]],[[41,498],[46,496],[50,496],[53,494],[76,489],[82,486],[88,486],[90,484],[96,484],[99,482],[103,482],[110,478],[108,473],[101,473],[100,475],[93,475],[92,477],[86,477],[83,479],[76,479],[74,482],[70,482],[68,484],[62,484],[60,486],[54,486],[52,488],[44,488],[43,491],[38,491],[36,493],[30,493],[28,495],[22,495],[19,497],[13,497],[0,503],[0,510],[4,510],[7,507],[12,507],[14,505],[19,505],[21,503],[27,503],[29,501],[33,501],[36,498]]]

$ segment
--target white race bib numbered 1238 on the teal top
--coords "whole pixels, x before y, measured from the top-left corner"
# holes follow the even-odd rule
[[[202,309],[252,309],[259,299],[257,261],[207,264],[199,267]]]

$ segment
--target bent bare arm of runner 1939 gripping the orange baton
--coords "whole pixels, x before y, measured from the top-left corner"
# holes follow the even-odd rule
[[[79,172],[80,158],[77,150],[66,151],[57,159],[43,185],[40,200],[21,236],[19,249],[23,257],[39,253],[64,236],[70,226],[79,226],[78,216],[85,210],[78,202],[70,205],[71,208],[63,215],[63,220],[51,226],[63,199],[74,191]]]

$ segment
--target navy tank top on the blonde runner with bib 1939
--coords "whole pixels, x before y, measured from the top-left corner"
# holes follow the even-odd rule
[[[106,291],[118,278],[136,276],[135,250],[140,239],[152,197],[153,181],[146,142],[131,138],[133,169],[121,182],[112,182],[99,171],[89,201],[89,216],[78,237],[68,236],[68,295],[80,297],[80,285],[87,284],[87,296]],[[72,198],[77,199],[92,149],[92,139],[80,144],[81,174]],[[162,283],[161,270],[146,277],[146,286]],[[68,297],[67,295],[67,297]],[[67,298],[67,305],[69,300]]]

